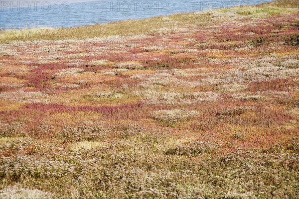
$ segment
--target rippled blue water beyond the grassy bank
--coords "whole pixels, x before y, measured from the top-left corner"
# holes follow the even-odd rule
[[[71,27],[270,0],[0,0],[0,28]]]

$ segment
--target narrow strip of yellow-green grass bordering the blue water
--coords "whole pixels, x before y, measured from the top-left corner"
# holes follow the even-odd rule
[[[296,2],[292,0],[287,0],[288,2],[293,3],[292,5],[295,5]],[[241,15],[255,15],[259,13],[266,13],[266,14],[279,14],[282,9],[286,9],[289,11],[292,11],[294,9],[294,12],[297,12],[298,9],[294,8],[294,6],[291,7],[285,7],[281,3],[280,0],[275,0],[271,2],[261,3],[257,5],[250,5],[246,6],[246,10],[243,10],[242,7],[239,7],[239,9],[236,9],[236,7],[229,7],[229,8],[221,8],[217,10],[207,10],[207,11],[199,11],[199,12],[184,12],[184,13],[176,13],[176,14],[169,14],[169,15],[162,15],[162,16],[155,16],[150,18],[144,18],[144,19],[127,19],[127,20],[120,20],[120,21],[113,21],[113,22],[107,22],[107,23],[97,23],[94,25],[84,25],[84,26],[78,26],[78,27],[67,27],[67,28],[51,28],[51,27],[44,27],[44,28],[33,28],[33,29],[18,29],[18,30],[2,30],[0,32],[0,42],[9,42],[10,40],[24,40],[24,41],[30,41],[35,39],[45,39],[45,40],[57,40],[59,39],[59,33],[62,33],[63,35],[67,35],[68,39],[84,39],[84,38],[90,38],[90,37],[102,37],[102,36],[112,36],[112,35],[135,35],[135,34],[150,34],[150,26],[157,26],[157,22],[164,23],[161,21],[163,18],[176,18],[178,17],[184,17],[191,14],[199,14],[199,15],[207,15],[208,13],[213,12],[220,12],[220,13],[241,13]],[[288,5],[288,4],[287,4]],[[277,7],[280,6],[280,7]],[[256,9],[259,7],[259,9]],[[237,7],[238,8],[238,7]],[[267,12],[269,10],[269,13]],[[143,22],[149,22],[149,26],[145,27],[142,25]],[[185,21],[187,23],[187,21]],[[184,23],[184,22],[181,22]],[[141,27],[137,27],[138,24],[140,24]],[[136,29],[131,30],[131,26],[135,26],[136,29],[140,29],[140,31],[136,31]],[[121,31],[119,28],[122,28]],[[173,28],[172,25],[166,25],[165,27]],[[95,30],[93,30],[95,28]],[[99,33],[96,32],[96,30],[99,31]],[[72,32],[75,31],[78,33],[78,35],[72,34]],[[118,31],[118,32],[116,32]],[[56,32],[56,33],[55,33]],[[58,34],[57,34],[58,33]],[[32,36],[30,34],[33,34]],[[63,38],[62,38],[63,39]]]

